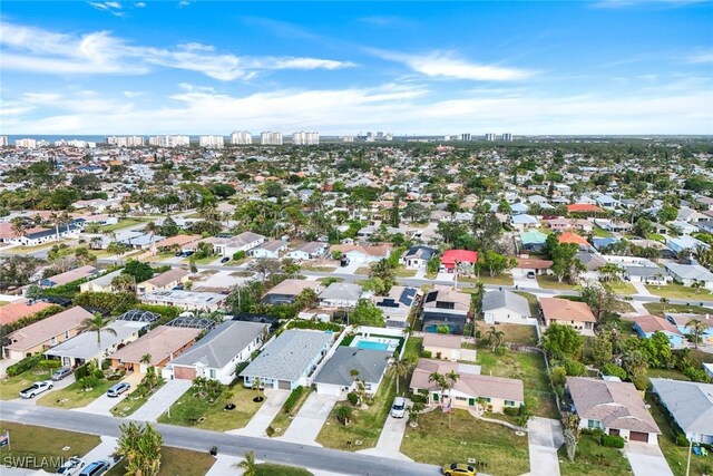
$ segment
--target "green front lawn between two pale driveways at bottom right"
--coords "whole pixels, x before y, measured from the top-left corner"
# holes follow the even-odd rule
[[[592,435],[582,435],[575,460],[569,462],[565,445],[559,448],[561,476],[625,476],[629,475],[628,459],[622,449],[605,448]]]

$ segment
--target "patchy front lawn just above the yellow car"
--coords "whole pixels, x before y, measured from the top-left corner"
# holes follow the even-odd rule
[[[517,436],[501,425],[473,418],[466,410],[448,414],[439,409],[419,415],[418,427],[407,426],[401,453],[419,463],[445,465],[476,458],[488,464],[488,474],[507,476],[529,472],[527,436]]]

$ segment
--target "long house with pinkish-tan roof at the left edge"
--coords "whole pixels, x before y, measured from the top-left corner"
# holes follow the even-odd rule
[[[3,349],[6,359],[23,359],[43,352],[79,333],[81,322],[94,314],[78,305],[55,315],[26,326],[6,336]]]

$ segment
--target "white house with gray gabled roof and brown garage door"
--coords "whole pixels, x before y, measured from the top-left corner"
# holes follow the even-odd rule
[[[194,380],[202,377],[231,383],[235,367],[260,349],[268,324],[225,321],[213,329],[191,349],[164,367],[164,378]]]

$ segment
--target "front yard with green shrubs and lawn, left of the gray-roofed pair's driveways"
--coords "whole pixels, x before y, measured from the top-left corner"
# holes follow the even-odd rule
[[[253,401],[256,396],[255,390],[240,382],[228,387],[216,380],[196,379],[158,422],[214,431],[243,428],[263,405],[264,399]],[[226,409],[229,404],[235,408]]]

